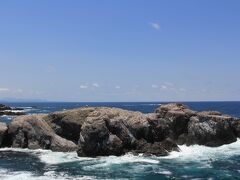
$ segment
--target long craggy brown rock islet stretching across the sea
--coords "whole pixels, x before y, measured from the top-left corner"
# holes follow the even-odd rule
[[[239,137],[240,119],[196,112],[183,104],[164,104],[150,114],[83,107],[0,123],[1,147],[77,151],[91,157],[128,152],[166,156],[179,151],[178,145],[217,147]]]

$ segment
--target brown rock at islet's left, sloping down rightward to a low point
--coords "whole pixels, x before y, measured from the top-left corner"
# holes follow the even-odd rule
[[[77,145],[56,135],[43,120],[44,115],[17,117],[9,124],[6,143],[8,146],[29,149],[74,151]]]

